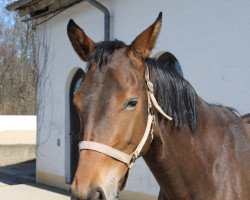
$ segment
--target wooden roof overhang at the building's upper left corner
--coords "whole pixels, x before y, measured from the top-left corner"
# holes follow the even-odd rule
[[[8,11],[17,11],[22,21],[37,19],[60,12],[83,0],[18,0],[6,6]]]

